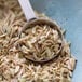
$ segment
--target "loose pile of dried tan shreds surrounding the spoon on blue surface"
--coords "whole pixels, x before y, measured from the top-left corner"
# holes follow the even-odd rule
[[[47,18],[42,14],[38,16]],[[70,43],[64,40],[56,60],[35,65],[15,46],[25,24],[17,0],[0,0],[0,82],[71,82],[76,59],[70,53]]]

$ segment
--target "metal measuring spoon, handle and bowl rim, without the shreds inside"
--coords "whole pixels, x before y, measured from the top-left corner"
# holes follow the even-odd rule
[[[26,16],[26,19],[28,20],[28,24],[26,24],[26,26],[23,28],[22,32],[25,31],[28,27],[33,27],[36,25],[49,25],[50,27],[56,29],[59,33],[59,37],[60,39],[63,40],[63,33],[60,31],[60,29],[58,28],[59,26],[55,23],[53,23],[52,20],[49,20],[49,19],[43,19],[43,18],[38,18],[30,5],[30,2],[29,0],[18,0],[23,11],[24,11],[24,14]],[[20,35],[22,35],[20,32]],[[31,60],[31,62],[35,62],[35,63],[46,63],[46,62],[50,62],[54,58],[56,58],[60,51],[62,51],[62,47],[63,47],[63,43],[60,45],[60,49],[59,51],[57,52],[56,55],[54,55],[52,58],[49,58],[49,59],[44,59],[44,60],[35,60],[33,58],[31,58],[31,56],[27,56],[27,59]],[[25,54],[25,53],[24,53]],[[27,55],[27,54],[26,54]]]

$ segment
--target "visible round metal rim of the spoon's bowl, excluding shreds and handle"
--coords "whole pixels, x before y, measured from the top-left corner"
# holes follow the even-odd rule
[[[57,24],[53,23],[52,20],[43,19],[43,18],[33,19],[33,20],[28,22],[28,23],[25,25],[25,27],[22,29],[20,35],[22,35],[25,30],[28,30],[29,28],[35,27],[36,25],[49,25],[52,29],[58,31],[59,38],[60,38],[60,40],[63,41],[63,33],[62,33],[62,31],[60,31],[59,26],[58,26]],[[19,35],[19,38],[20,38],[20,35]],[[22,51],[22,49],[20,49],[20,45],[19,45],[19,50],[22,51],[23,54],[25,54],[25,57],[26,57],[27,59],[29,59],[29,60],[31,60],[31,62],[35,62],[35,63],[40,63],[40,64],[41,64],[41,63],[46,63],[46,62],[50,62],[50,60],[56,58],[56,57],[59,55],[62,49],[63,49],[63,42],[62,42],[60,49],[57,51],[57,53],[56,53],[54,56],[52,56],[52,57],[49,58],[49,59],[36,60],[36,59],[32,58],[31,55],[28,56],[26,53],[24,53],[24,52]]]

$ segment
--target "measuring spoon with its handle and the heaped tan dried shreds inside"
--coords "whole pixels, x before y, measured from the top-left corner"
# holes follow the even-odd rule
[[[19,51],[35,63],[46,63],[59,56],[63,47],[59,26],[50,19],[37,17],[29,0],[18,2],[28,22],[19,35]]]

